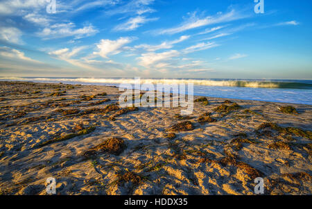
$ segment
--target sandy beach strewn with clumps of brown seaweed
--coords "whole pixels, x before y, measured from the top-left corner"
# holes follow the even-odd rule
[[[312,193],[311,105],[195,97],[184,116],[121,108],[118,87],[0,86],[0,194]]]

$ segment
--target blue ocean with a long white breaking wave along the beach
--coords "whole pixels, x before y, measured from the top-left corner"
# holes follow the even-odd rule
[[[0,81],[33,81],[81,85],[134,83],[134,78],[0,77]],[[193,83],[196,96],[312,105],[312,80],[141,78],[141,83]]]

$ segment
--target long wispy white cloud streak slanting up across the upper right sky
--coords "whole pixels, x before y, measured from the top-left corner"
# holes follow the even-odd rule
[[[193,28],[199,28],[202,26],[207,26],[211,24],[219,24],[223,22],[231,22],[236,19],[242,19],[248,17],[248,15],[242,15],[240,12],[237,12],[236,10],[232,9],[231,11],[223,14],[222,12],[218,12],[217,15],[214,16],[208,16],[200,18],[196,15],[196,12],[193,12],[189,19],[184,21],[180,26],[168,28],[168,29],[162,29],[158,31],[158,34],[175,34],[180,33],[183,31],[187,31]]]

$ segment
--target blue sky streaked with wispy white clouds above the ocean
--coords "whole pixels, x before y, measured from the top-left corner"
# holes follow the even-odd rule
[[[0,0],[0,76],[312,79],[312,1],[254,1]]]

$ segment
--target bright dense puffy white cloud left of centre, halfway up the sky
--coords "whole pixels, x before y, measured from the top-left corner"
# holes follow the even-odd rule
[[[94,52],[95,55],[99,55],[103,58],[107,58],[107,55],[115,55],[122,51],[122,47],[132,41],[130,37],[120,37],[118,40],[103,39],[96,45],[99,51]]]

